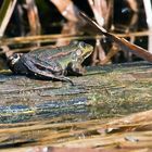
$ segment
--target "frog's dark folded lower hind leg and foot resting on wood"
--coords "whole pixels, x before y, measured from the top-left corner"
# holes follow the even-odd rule
[[[71,83],[72,86],[74,86],[74,83],[65,76],[62,75],[54,75],[52,74],[52,72],[50,71],[42,71],[40,68],[38,68],[35,63],[33,63],[31,61],[25,61],[24,64],[26,65],[26,67],[28,68],[29,73],[33,73],[34,76],[36,77],[40,77],[42,79],[56,79],[56,80],[61,80],[61,81],[67,81]]]

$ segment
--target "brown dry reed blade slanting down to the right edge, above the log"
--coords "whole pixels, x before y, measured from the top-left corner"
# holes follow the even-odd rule
[[[124,38],[119,38],[113,34],[107,33],[103,27],[100,27],[96,22],[93,22],[91,18],[89,18],[86,14],[79,13],[79,15],[92,27],[96,28],[97,34],[102,34],[106,36],[112,41],[116,42],[123,50],[125,51],[131,51],[134,54],[152,62],[152,54],[144,50],[143,48],[136,46],[134,43],[130,43]]]

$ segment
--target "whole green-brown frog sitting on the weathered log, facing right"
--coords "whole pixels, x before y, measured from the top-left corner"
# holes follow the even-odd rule
[[[14,74],[68,81],[74,85],[67,76],[83,76],[86,69],[81,63],[92,52],[91,45],[74,41],[67,46],[36,49],[24,54],[14,53],[9,58],[8,63]]]

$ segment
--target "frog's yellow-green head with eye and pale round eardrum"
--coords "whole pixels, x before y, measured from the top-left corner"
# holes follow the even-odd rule
[[[73,61],[83,63],[83,61],[92,53],[93,47],[83,41],[75,45],[76,49],[72,54]]]

